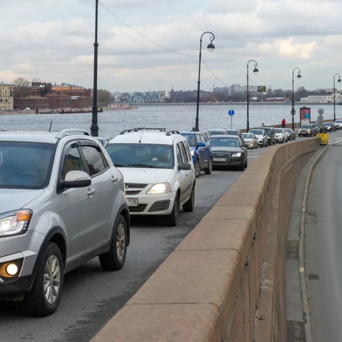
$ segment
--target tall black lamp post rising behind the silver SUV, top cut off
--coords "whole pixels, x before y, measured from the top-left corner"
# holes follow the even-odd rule
[[[97,125],[97,22],[98,22],[98,0],[95,0],[95,42],[94,42],[94,86],[93,86],[93,108],[91,117],[90,133],[92,136],[98,136]]]

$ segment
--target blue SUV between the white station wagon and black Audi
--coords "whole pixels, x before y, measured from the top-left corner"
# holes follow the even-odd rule
[[[201,170],[211,174],[213,158],[211,145],[206,136],[201,132],[180,132],[189,142],[191,155],[195,166],[195,176],[198,177]]]

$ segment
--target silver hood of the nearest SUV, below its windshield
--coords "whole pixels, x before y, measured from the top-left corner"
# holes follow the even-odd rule
[[[0,188],[0,213],[22,209],[42,195],[42,189],[1,189]],[[30,209],[29,206],[27,209]]]

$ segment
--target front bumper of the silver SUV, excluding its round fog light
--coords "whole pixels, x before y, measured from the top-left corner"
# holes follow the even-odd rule
[[[6,295],[23,294],[30,290],[34,269],[44,235],[27,231],[25,234],[0,238],[0,265],[16,261],[18,275],[0,276],[0,299]]]

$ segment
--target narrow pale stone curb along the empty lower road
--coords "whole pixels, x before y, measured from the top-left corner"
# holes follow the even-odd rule
[[[300,236],[299,236],[299,276],[300,276],[300,285],[302,291],[302,305],[303,305],[303,312],[305,314],[306,323],[305,327],[305,339],[306,342],[312,342],[312,332],[311,332],[311,321],[310,321],[310,311],[309,305],[307,300],[307,292],[306,292],[306,279],[305,279],[305,267],[304,267],[304,235],[305,235],[305,214],[306,214],[306,202],[307,202],[307,193],[309,189],[309,183],[311,180],[311,174],[313,168],[316,166],[319,158],[323,155],[325,150],[328,148],[329,145],[325,146],[319,155],[315,158],[312,164],[309,167],[305,187],[304,187],[304,196],[302,202],[302,214],[300,220]]]

